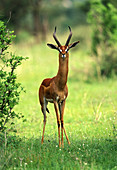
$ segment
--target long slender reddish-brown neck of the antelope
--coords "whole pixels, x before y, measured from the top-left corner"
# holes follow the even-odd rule
[[[67,53],[66,58],[62,58],[61,54],[59,54],[59,69],[56,76],[56,84],[60,90],[64,89],[67,83],[68,76],[68,59],[69,54]]]

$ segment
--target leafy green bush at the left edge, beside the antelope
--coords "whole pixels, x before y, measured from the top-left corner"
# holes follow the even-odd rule
[[[21,84],[16,82],[15,70],[26,58],[9,54],[7,51],[14,38],[13,31],[9,31],[0,21],[0,131],[7,128],[8,122],[14,124],[15,117],[18,119],[23,117],[21,113],[14,111],[15,105],[19,103],[20,92],[23,90]]]

